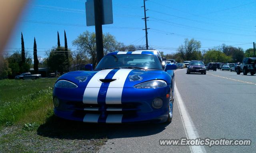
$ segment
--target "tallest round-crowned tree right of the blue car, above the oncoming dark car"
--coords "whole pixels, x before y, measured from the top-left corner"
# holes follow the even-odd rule
[[[184,44],[180,45],[178,48],[178,52],[180,53],[183,60],[198,60],[194,59],[195,57],[198,58],[196,54],[199,54],[199,49],[201,48],[201,42],[192,38],[188,40],[186,38],[184,40]],[[201,57],[200,57],[201,58]]]

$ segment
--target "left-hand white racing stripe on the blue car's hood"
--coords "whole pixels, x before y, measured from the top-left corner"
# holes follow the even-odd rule
[[[88,82],[84,90],[83,103],[97,104],[98,93],[100,90],[101,82],[99,79],[104,79],[113,69],[101,70],[97,72],[92,79]]]

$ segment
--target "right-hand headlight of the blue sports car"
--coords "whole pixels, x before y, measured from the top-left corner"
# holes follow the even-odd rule
[[[166,87],[167,83],[166,81],[163,80],[152,80],[152,81],[147,81],[144,83],[140,83],[138,85],[135,85],[135,88],[143,88],[143,89],[148,89],[148,88],[159,88],[159,87]]]

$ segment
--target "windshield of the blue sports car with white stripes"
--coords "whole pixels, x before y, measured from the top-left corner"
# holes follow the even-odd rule
[[[110,68],[141,68],[148,70],[162,70],[157,56],[146,54],[117,54],[102,58],[96,70]]]

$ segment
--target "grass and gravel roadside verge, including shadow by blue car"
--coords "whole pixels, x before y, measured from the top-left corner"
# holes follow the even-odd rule
[[[55,81],[0,80],[0,153],[90,153],[106,142],[104,129],[54,116]]]

